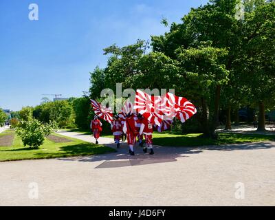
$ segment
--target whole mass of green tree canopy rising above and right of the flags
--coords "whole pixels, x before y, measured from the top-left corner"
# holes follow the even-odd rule
[[[111,45],[104,49],[107,66],[91,73],[91,98],[99,98],[103,87],[115,89],[115,83],[175,89],[196,104],[203,132],[211,137],[217,137],[221,108],[230,114],[258,104],[264,121],[265,106],[274,106],[275,96],[274,10],[274,1],[212,0],[192,8],[169,32],[151,36],[150,50],[141,40]]]

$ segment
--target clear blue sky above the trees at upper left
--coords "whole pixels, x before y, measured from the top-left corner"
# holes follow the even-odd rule
[[[82,96],[102,49],[168,31],[207,0],[0,0],[0,107],[35,106],[42,94]],[[30,21],[30,3],[39,20]],[[54,98],[48,96],[49,98]]]

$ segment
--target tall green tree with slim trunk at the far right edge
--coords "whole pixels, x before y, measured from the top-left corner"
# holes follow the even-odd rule
[[[258,130],[265,130],[265,107],[274,106],[275,91],[275,2],[248,1],[243,21],[239,56],[242,81],[250,103],[258,105]]]

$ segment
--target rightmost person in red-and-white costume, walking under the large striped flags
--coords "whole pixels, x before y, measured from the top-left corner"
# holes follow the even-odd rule
[[[143,148],[143,152],[147,153],[147,148],[150,149],[150,154],[153,155],[153,124],[149,122],[146,118],[142,120],[142,124],[140,125],[140,135],[144,134],[145,137],[145,147]]]

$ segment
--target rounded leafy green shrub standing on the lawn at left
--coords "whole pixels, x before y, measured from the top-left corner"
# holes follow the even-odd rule
[[[34,148],[39,148],[44,143],[45,136],[50,135],[57,128],[55,122],[43,124],[36,119],[21,123],[23,126],[17,127],[17,134],[21,137],[24,146]]]

